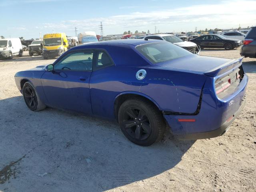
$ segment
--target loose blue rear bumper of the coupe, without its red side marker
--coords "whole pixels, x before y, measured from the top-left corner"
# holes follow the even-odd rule
[[[200,111],[196,114],[164,114],[164,118],[172,130],[172,134],[183,140],[212,138],[222,135],[239,115],[244,107],[244,94],[248,83],[248,76],[244,74],[236,91],[219,99],[214,88],[209,88],[211,80],[207,80],[202,91]],[[182,119],[193,119],[184,122]]]

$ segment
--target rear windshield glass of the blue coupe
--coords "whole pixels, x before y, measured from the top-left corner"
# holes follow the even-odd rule
[[[153,64],[192,54],[184,48],[166,41],[138,45],[136,50]]]

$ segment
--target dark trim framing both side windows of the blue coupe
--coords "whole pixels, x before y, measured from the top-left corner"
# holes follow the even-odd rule
[[[110,54],[108,53],[107,50],[105,49],[102,49],[102,48],[83,48],[83,49],[76,49],[76,50],[72,50],[70,52],[68,52],[68,54],[71,54],[73,52],[80,52],[80,51],[90,51],[92,50],[93,51],[93,57],[92,57],[92,70],[68,70],[68,69],[58,69],[58,71],[86,71],[86,72],[93,72],[93,71],[97,71],[97,70],[101,70],[103,68],[106,68],[106,67],[110,67],[110,66],[116,66],[116,64],[114,63],[114,60],[112,59],[112,57],[110,56]],[[111,62],[112,62],[112,65],[108,65],[108,66],[105,66],[105,67],[102,67],[102,68],[99,68],[99,69],[94,69],[94,67],[96,66],[96,62],[98,62],[98,52],[99,51],[104,51],[108,57],[110,58]],[[65,55],[61,55],[54,63],[53,63],[53,66],[55,66],[64,56],[68,55],[68,54],[65,54]]]

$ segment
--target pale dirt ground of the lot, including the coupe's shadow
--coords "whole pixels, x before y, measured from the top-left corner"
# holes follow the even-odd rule
[[[237,50],[201,55],[238,58]],[[52,108],[32,112],[14,74],[54,59],[0,60],[0,192],[255,192],[256,59],[244,58],[246,106],[223,136],[178,141],[167,133],[149,147],[118,124]]]

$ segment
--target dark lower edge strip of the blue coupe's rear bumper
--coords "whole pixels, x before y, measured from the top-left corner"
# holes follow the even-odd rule
[[[197,140],[197,139],[206,139],[206,138],[214,138],[214,137],[221,136],[229,129],[232,122],[238,117],[240,112],[243,110],[244,105],[245,105],[245,100],[243,100],[240,108],[233,115],[232,119],[224,122],[224,124],[222,124],[222,126],[220,126],[216,130],[201,132],[201,133],[180,134],[180,135],[176,135],[176,138],[178,138],[179,140]]]

